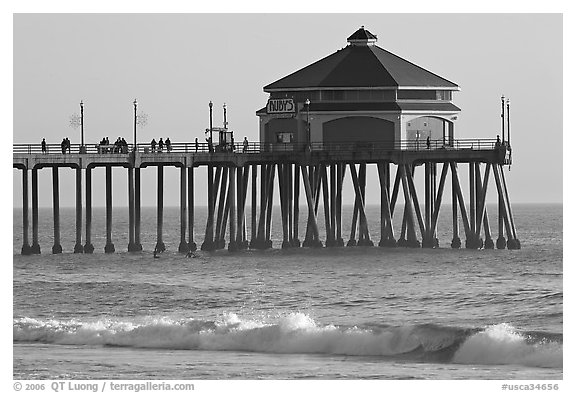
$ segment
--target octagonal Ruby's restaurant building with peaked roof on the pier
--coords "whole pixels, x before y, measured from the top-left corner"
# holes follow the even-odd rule
[[[268,144],[389,143],[451,145],[460,88],[390,53],[362,26],[348,45],[264,87],[260,117]],[[407,145],[403,145],[406,147]],[[313,147],[312,147],[313,148]]]

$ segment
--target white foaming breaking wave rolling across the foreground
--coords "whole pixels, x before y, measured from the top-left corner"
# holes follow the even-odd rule
[[[14,342],[181,350],[380,356],[461,364],[562,367],[562,335],[521,333],[508,324],[483,329],[439,325],[320,326],[303,313],[272,321],[225,314],[218,321],[39,320],[15,318]]]

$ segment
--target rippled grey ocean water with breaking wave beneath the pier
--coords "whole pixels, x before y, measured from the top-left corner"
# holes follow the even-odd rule
[[[368,209],[377,244],[379,208]],[[52,255],[41,209],[33,256],[20,255],[15,209],[14,379],[562,379],[562,205],[513,209],[521,250],[451,249],[446,206],[439,249],[281,250],[276,212],[275,249],[186,258],[179,209],[165,208],[158,259],[154,208],[141,253],[126,251],[128,212],[114,209],[114,254],[94,209],[92,255],[72,253],[73,208]]]

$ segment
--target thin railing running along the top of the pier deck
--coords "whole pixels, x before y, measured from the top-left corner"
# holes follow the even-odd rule
[[[389,152],[389,151],[426,151],[426,150],[493,150],[502,147],[495,139],[455,139],[450,143],[442,140],[402,140],[390,142],[312,142],[312,143],[263,143],[263,142],[238,142],[234,145],[213,145],[206,142],[176,142],[164,145],[160,148],[157,144],[152,147],[150,143],[138,143],[139,153],[211,153],[228,152],[235,154],[254,154],[262,152],[305,152],[305,151],[328,151],[328,152]],[[504,146],[505,147],[505,146]],[[63,148],[60,144],[46,144],[43,151],[40,143],[14,144],[14,154],[129,154],[133,145],[100,145],[100,144],[71,144]]]

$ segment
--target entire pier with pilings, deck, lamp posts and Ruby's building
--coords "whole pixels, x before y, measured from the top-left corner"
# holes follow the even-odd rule
[[[452,103],[452,93],[459,90],[458,85],[379,48],[376,39],[362,27],[348,37],[345,48],[266,85],[268,103],[256,113],[260,118],[259,142],[236,141],[234,148],[225,146],[229,141],[224,138],[219,140],[218,149],[211,142],[173,142],[170,149],[160,150],[134,140],[130,149],[116,152],[108,147],[84,145],[83,140],[67,151],[56,145],[47,145],[43,151],[40,144],[15,144],[13,167],[22,172],[22,253],[41,252],[38,171],[43,169],[52,173],[52,252],[63,251],[59,176],[66,168],[68,172],[72,169],[76,179],[73,251],[95,250],[92,195],[98,190],[92,189],[92,172],[104,169],[104,252],[115,252],[112,167],[125,168],[128,177],[130,252],[142,250],[142,171],[146,172],[147,181],[151,172],[156,173],[155,249],[165,250],[163,195],[167,166],[180,170],[180,252],[196,250],[197,240],[202,241],[200,247],[206,251],[226,245],[230,251],[270,248],[275,193],[280,200],[283,248],[373,246],[365,206],[368,165],[377,169],[380,186],[379,246],[438,247],[438,217],[445,185],[451,183],[451,247],[462,246],[462,225],[466,248],[520,248],[503,171],[504,165],[512,163],[509,122],[507,138],[504,133],[504,98],[501,139],[458,139],[455,123],[460,109]],[[210,103],[210,113],[211,109]],[[136,117],[135,101],[134,135]],[[210,117],[208,132],[211,135],[215,130]],[[468,190],[460,184],[462,166],[468,175]],[[151,169],[154,167],[155,171]],[[207,172],[206,187],[195,185],[198,170]],[[424,173],[423,195],[415,184],[417,170]],[[496,244],[486,209],[489,183],[498,196]],[[343,232],[348,219],[342,214],[344,187],[351,187],[354,192],[349,234]],[[194,195],[198,189],[206,189],[208,196],[205,223],[196,223],[195,219]],[[305,211],[300,211],[302,202]],[[300,227],[300,215],[307,217],[304,227]],[[324,233],[319,231],[319,220],[324,221]],[[400,231],[395,230],[395,222]]]

